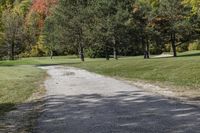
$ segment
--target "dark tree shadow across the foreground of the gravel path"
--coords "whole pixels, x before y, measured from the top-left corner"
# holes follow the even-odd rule
[[[140,91],[113,96],[52,95],[35,133],[195,133],[200,130],[199,107]]]

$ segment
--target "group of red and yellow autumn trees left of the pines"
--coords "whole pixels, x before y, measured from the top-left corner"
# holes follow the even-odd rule
[[[43,27],[55,0],[1,0],[0,57],[44,56]]]

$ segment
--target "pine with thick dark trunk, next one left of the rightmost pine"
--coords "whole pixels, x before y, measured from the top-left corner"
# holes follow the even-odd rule
[[[142,44],[144,58],[150,58],[150,41],[154,40],[156,31],[152,20],[157,14],[158,0],[136,0],[132,11],[132,26],[135,28],[138,41]]]

